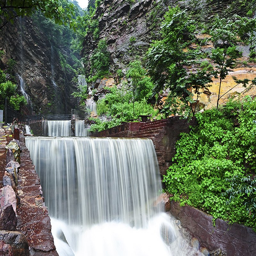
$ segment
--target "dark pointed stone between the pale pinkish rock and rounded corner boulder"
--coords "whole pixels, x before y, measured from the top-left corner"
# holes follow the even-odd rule
[[[13,211],[12,204],[7,203],[1,207],[0,211],[0,230],[15,231],[17,226],[17,217]]]

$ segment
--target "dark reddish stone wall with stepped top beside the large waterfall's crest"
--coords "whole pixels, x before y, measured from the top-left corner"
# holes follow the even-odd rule
[[[172,164],[175,155],[175,144],[180,138],[180,132],[189,132],[189,125],[195,125],[193,118],[189,123],[178,116],[150,123],[125,123],[116,127],[94,134],[98,137],[124,137],[124,138],[149,138],[153,141],[160,168],[160,174]]]

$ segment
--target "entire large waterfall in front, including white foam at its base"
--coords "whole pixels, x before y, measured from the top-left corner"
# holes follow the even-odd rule
[[[195,255],[182,252],[175,225],[154,206],[161,181],[151,140],[30,137],[26,145],[60,256]],[[56,238],[62,232],[74,254]]]

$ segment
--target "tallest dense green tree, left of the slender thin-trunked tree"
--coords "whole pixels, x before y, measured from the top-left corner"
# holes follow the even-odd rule
[[[170,88],[162,112],[167,116],[178,113],[188,117],[196,110],[196,104],[192,107],[192,103],[197,103],[192,92],[198,98],[200,89],[210,86],[212,71],[194,68],[199,66],[200,51],[190,47],[195,39],[195,26],[186,11],[180,11],[179,7],[169,8],[164,19],[160,31],[162,39],[151,44],[146,68],[156,84],[154,93]],[[193,72],[189,71],[191,68],[194,68]],[[177,101],[179,106],[172,108]]]

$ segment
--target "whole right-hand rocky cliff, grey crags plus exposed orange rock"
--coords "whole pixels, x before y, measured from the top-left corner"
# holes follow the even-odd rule
[[[92,18],[93,20],[99,21],[99,38],[94,40],[93,32],[89,32],[84,40],[82,55],[87,60],[90,60],[98,41],[104,39],[107,42],[108,51],[110,52],[109,71],[113,75],[113,78],[117,77],[118,70],[122,70],[124,76],[129,63],[135,59],[143,60],[150,43],[153,40],[160,39],[160,25],[164,19],[164,13],[169,7],[179,5],[181,9],[187,9],[189,13],[193,14],[195,25],[198,28],[198,35],[196,36],[202,39],[209,37],[209,35],[203,35],[202,31],[211,27],[214,15],[219,14],[227,18],[233,17],[234,14],[244,16],[249,12],[248,10],[251,10],[253,13],[255,8],[250,7],[252,2],[245,1],[241,4],[239,1],[232,0],[104,0],[101,1],[100,6],[98,6]],[[230,74],[224,83],[222,83],[222,94],[234,86],[233,75],[237,75],[239,79],[253,79],[256,76],[254,70],[255,63],[247,65],[249,47],[239,47],[239,50],[243,52],[243,56],[238,60],[240,62],[240,65],[238,65],[239,69],[235,69],[234,73]],[[208,41],[206,45],[202,46],[204,52],[209,52],[212,48],[213,44],[211,41]],[[86,70],[87,74],[90,73],[90,61],[87,63]],[[100,80],[97,80],[97,83],[100,83]],[[97,88],[94,83],[92,87]],[[200,104],[198,104],[200,109],[216,106],[216,92],[218,92],[218,88],[219,81],[215,79],[212,87],[209,90],[205,90],[201,95],[199,99]],[[221,98],[220,104],[225,104],[230,96],[238,96],[244,90],[245,88],[242,85],[235,87],[225,97]],[[250,95],[256,94],[255,86],[252,86],[250,90],[250,92],[246,91],[246,93]],[[167,93],[165,92],[163,95],[160,95],[162,97],[158,102],[159,108],[161,108],[161,104],[166,99]]]

